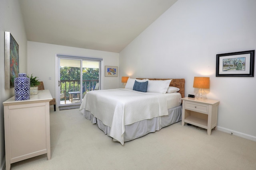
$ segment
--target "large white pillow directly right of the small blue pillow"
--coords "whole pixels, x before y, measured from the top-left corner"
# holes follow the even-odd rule
[[[165,94],[168,87],[170,86],[170,80],[148,80],[147,92],[162,93]]]

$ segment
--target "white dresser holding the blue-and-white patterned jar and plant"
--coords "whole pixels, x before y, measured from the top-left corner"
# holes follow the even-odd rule
[[[4,133],[6,170],[10,164],[50,152],[50,107],[52,96],[49,90],[38,90],[29,100],[14,100],[4,105]]]

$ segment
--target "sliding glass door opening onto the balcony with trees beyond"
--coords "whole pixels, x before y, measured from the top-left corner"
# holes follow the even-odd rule
[[[77,106],[100,82],[100,61],[58,56],[58,106]],[[75,107],[72,107],[75,108]]]

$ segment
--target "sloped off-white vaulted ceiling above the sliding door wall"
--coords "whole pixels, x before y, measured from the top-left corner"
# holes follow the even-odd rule
[[[177,0],[20,0],[28,41],[119,53]]]

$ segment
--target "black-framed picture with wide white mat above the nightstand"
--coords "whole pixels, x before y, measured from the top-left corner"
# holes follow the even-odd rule
[[[216,55],[216,77],[254,77],[255,50]]]

